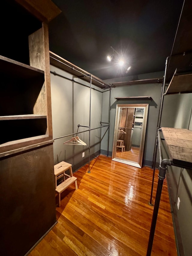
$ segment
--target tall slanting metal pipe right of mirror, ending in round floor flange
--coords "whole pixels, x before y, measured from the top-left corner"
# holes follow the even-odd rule
[[[162,117],[162,110],[163,110],[163,101],[164,101],[164,92],[165,92],[165,84],[166,84],[166,77],[167,77],[167,63],[168,63],[168,59],[170,57],[168,56],[166,59],[166,63],[165,63],[165,74],[164,74],[164,82],[163,82],[163,88],[161,90],[161,101],[160,101],[160,107],[159,107],[159,115],[158,115],[158,124],[157,124],[157,130],[156,130],[156,138],[158,140],[158,130],[161,126],[161,117]],[[154,151],[154,159],[153,159],[153,178],[152,178],[152,188],[151,188],[151,198],[150,198],[150,202],[149,205],[153,205],[152,204],[152,194],[153,194],[153,182],[154,182],[154,176],[155,176],[155,164],[156,164],[156,159],[157,159],[157,147],[158,147],[158,142],[156,140],[156,144],[155,144],[155,151]]]

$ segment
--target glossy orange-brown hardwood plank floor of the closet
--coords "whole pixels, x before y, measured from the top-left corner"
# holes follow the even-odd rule
[[[58,223],[30,256],[146,255],[153,206],[152,169],[100,155],[74,173],[75,186],[61,194]],[[153,203],[158,181],[155,174]],[[43,216],[42,216],[43,218]],[[151,255],[176,256],[167,182],[164,180]]]

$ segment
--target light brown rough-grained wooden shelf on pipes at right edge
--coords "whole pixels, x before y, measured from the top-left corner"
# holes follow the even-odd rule
[[[161,127],[173,165],[192,168],[192,131]]]

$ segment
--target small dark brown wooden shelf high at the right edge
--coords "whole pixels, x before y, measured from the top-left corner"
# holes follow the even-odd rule
[[[165,95],[192,92],[192,70],[176,69]]]

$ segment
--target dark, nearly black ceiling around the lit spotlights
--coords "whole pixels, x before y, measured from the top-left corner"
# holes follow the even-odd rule
[[[184,0],[52,0],[49,49],[102,80],[164,71]],[[119,68],[111,46],[131,69]]]

